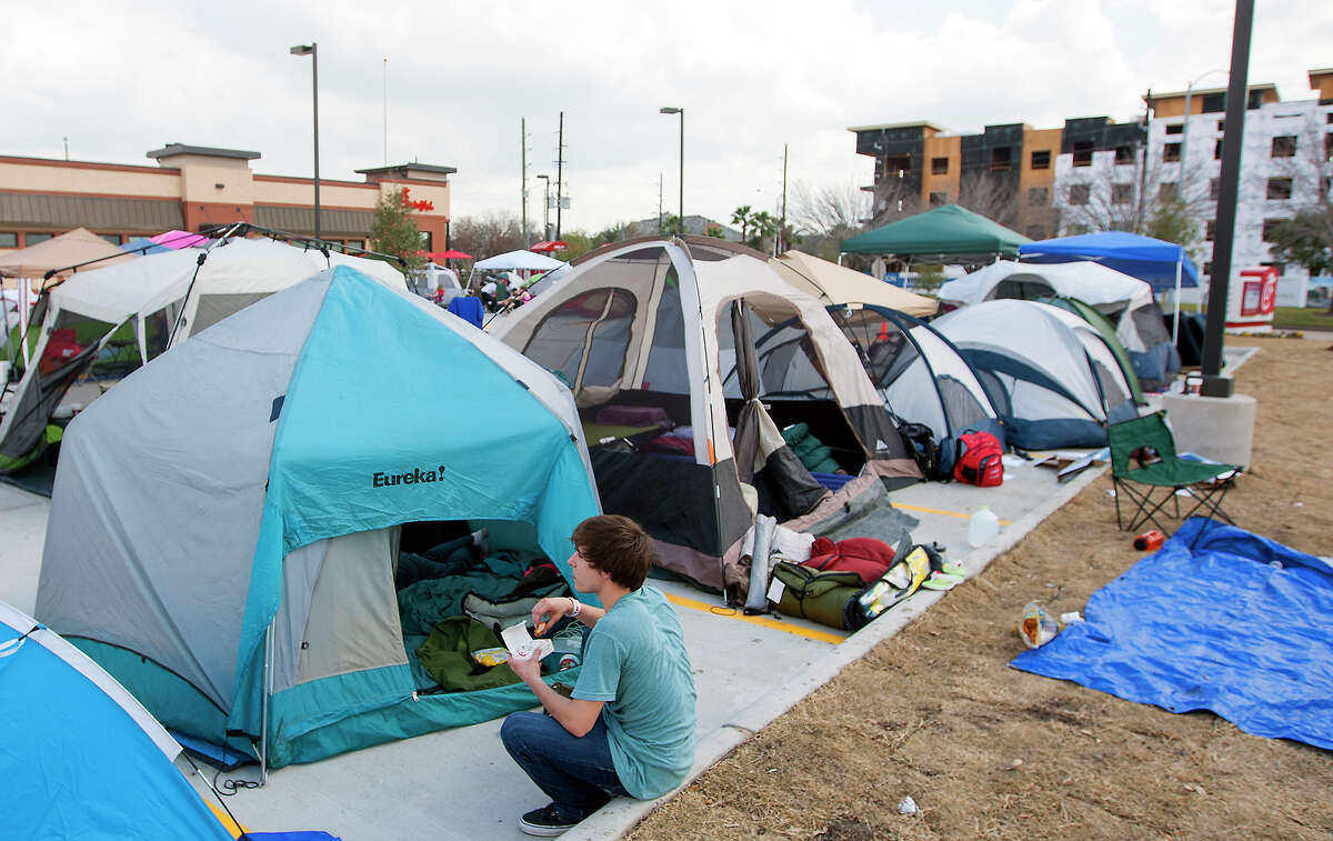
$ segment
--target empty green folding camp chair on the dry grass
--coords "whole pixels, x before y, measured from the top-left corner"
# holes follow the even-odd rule
[[[1185,517],[1202,509],[1209,518],[1217,517],[1236,525],[1221,505],[1232,486],[1229,480],[1240,468],[1230,464],[1188,461],[1176,456],[1176,440],[1166,426],[1164,412],[1112,424],[1108,433],[1110,438],[1110,476],[1116,484],[1116,524],[1120,528],[1132,532],[1145,522],[1152,522],[1169,534],[1169,529],[1157,520],[1157,513],[1168,501],[1172,501],[1176,505],[1176,517],[1180,518],[1180,497],[1176,492],[1181,489],[1189,489],[1190,496],[1197,500],[1194,508]],[[1228,481],[1200,485],[1200,482],[1221,477]],[[1146,485],[1146,490],[1136,485]],[[1154,500],[1153,493],[1157,488],[1166,489],[1166,496]],[[1137,505],[1129,516],[1128,525],[1121,520],[1121,494]]]

